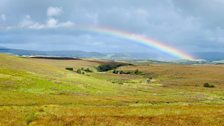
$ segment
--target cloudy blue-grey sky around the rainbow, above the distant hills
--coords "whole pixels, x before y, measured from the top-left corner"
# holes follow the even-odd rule
[[[224,50],[223,0],[0,0],[0,46],[30,50],[153,52],[75,26],[104,26],[188,54]]]

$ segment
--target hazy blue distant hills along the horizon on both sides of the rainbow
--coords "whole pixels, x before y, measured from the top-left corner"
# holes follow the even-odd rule
[[[23,49],[10,49],[0,47],[0,53],[8,53],[19,56],[57,56],[57,57],[74,57],[74,58],[99,58],[99,59],[122,59],[122,60],[159,60],[156,53],[99,53],[85,51],[36,51]],[[192,53],[196,58],[201,59],[200,63],[223,61],[224,52],[195,52]],[[162,60],[166,61],[166,60]],[[203,61],[203,62],[202,62]],[[174,61],[187,62],[184,60]]]

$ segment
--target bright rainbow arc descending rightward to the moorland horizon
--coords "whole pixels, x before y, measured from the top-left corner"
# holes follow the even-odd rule
[[[172,56],[175,56],[176,58],[186,59],[186,60],[195,60],[193,56],[185,52],[182,52],[178,49],[167,46],[161,42],[155,41],[153,39],[150,39],[141,35],[129,33],[126,31],[121,31],[118,29],[113,29],[108,27],[99,27],[99,26],[76,26],[75,28],[78,30],[95,32],[95,33],[100,33],[100,34],[105,34],[109,36],[119,37],[122,39],[131,40],[133,42],[138,42],[138,43],[144,44],[145,46],[152,47],[160,51],[163,51],[167,54],[170,54]]]

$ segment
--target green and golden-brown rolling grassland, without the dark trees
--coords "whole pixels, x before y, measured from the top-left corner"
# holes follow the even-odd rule
[[[0,54],[0,126],[224,125],[224,65],[117,68],[134,75],[97,72],[102,63]]]

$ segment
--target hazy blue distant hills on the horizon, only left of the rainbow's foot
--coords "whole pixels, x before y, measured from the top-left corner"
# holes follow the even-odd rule
[[[19,56],[58,56],[58,57],[76,57],[76,58],[100,58],[100,59],[120,59],[120,60],[146,60],[157,59],[155,53],[99,53],[99,52],[85,52],[85,51],[36,51],[23,49],[10,49],[0,47],[0,53],[8,53]]]

